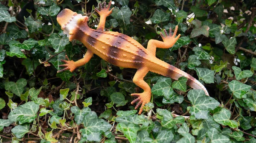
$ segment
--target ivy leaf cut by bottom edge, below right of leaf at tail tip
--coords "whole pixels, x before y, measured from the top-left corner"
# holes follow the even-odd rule
[[[207,136],[210,138],[211,143],[227,143],[230,141],[228,137],[221,135],[215,128],[209,129]]]

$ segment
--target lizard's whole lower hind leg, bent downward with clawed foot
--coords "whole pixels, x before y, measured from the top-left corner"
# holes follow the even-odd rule
[[[133,79],[134,84],[136,84],[138,87],[140,87],[144,90],[143,93],[133,93],[133,94],[131,94],[131,96],[138,97],[137,99],[132,101],[131,104],[134,104],[137,101],[139,101],[137,103],[136,107],[135,107],[135,109],[137,109],[141,105],[139,114],[141,114],[144,105],[146,103],[148,103],[150,101],[150,98],[151,98],[151,89],[148,86],[148,84],[143,80],[143,78],[145,77],[145,75],[147,73],[148,73],[148,69],[146,67],[141,67],[140,69],[137,70],[137,72],[134,75],[134,79]]]

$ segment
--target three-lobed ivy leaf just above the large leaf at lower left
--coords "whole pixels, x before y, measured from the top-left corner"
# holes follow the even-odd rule
[[[83,109],[79,109],[77,106],[71,107],[71,112],[75,114],[75,121],[78,125],[83,122],[85,115],[91,112],[91,109],[88,107],[84,107]]]

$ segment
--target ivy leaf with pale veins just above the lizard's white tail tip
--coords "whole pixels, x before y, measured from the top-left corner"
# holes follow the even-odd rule
[[[196,67],[195,71],[198,78],[203,80],[207,84],[214,83],[214,71],[207,68]]]

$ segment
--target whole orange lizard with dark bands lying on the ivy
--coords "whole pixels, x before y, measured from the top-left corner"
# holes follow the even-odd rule
[[[147,49],[145,49],[139,42],[125,34],[104,31],[106,17],[112,12],[112,9],[109,10],[111,1],[108,4],[108,7],[106,7],[106,3],[104,3],[104,6],[101,4],[99,6],[101,10],[95,8],[95,11],[100,15],[100,22],[96,30],[88,27],[88,17],[86,16],[77,14],[69,9],[64,9],[58,14],[57,21],[61,25],[61,29],[64,30],[64,34],[69,36],[70,41],[78,39],[88,49],[84,58],[76,62],[73,60],[62,60],[66,64],[62,64],[60,67],[65,68],[58,72],[64,70],[70,70],[72,72],[76,67],[86,64],[93,54],[96,54],[105,61],[119,67],[136,68],[137,72],[134,75],[133,81],[137,86],[141,87],[144,92],[131,94],[131,96],[137,97],[131,104],[138,102],[135,109],[141,105],[139,114],[141,114],[143,106],[148,103],[151,98],[151,89],[143,80],[148,71],[175,80],[184,76],[188,79],[187,84],[190,87],[194,89],[202,89],[206,95],[209,95],[204,85],[195,78],[182,70],[157,59],[155,56],[156,48],[170,48],[175,44],[177,39],[179,39],[180,34],[175,38],[178,28],[177,26],[173,35],[171,29],[169,30],[169,34],[165,31],[165,35],[162,33],[160,34],[163,38],[163,42],[151,39],[148,42]]]

